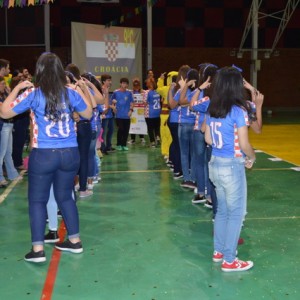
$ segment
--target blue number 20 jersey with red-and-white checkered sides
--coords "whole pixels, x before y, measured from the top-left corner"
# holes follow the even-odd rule
[[[70,88],[67,88],[70,107],[78,112],[87,108],[82,97]],[[63,101],[62,119],[54,122],[45,116],[46,99],[42,91],[29,89],[18,96],[11,103],[12,110],[20,114],[31,110],[33,124],[33,148],[68,148],[77,147],[75,122],[72,119],[72,111],[69,105]]]

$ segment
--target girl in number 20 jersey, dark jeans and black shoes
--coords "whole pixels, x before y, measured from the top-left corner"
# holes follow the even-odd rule
[[[0,109],[2,118],[11,118],[28,109],[33,124],[32,151],[28,169],[28,200],[32,250],[25,255],[30,262],[44,262],[46,205],[50,187],[64,218],[68,240],[56,248],[72,253],[83,251],[79,219],[72,197],[74,177],[79,168],[79,152],[72,112],[89,119],[92,108],[79,86],[67,87],[60,59],[53,53],[42,54],[36,64],[35,87],[19,83]],[[18,92],[27,89],[21,95]],[[76,89],[76,90],[74,90]],[[82,84],[82,89],[87,89]]]

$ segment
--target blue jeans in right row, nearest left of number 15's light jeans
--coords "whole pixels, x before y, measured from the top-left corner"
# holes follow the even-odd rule
[[[199,195],[205,194],[205,174],[204,174],[204,161],[205,161],[205,140],[204,133],[200,130],[194,130],[193,132],[193,160],[192,169],[196,176],[197,189]]]

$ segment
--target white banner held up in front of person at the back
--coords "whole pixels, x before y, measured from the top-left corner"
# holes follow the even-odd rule
[[[130,134],[148,134],[142,94],[133,94],[134,106],[130,119]]]

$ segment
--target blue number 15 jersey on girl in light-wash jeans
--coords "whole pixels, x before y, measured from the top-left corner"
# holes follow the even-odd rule
[[[222,119],[207,116],[206,124],[210,127],[212,155],[226,158],[244,156],[239,145],[237,130],[249,125],[245,109],[233,106],[226,118]]]

